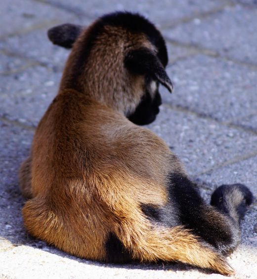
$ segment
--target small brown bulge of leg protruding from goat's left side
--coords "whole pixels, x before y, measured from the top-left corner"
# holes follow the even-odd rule
[[[28,157],[22,164],[19,170],[19,187],[22,195],[25,198],[32,198],[31,191],[31,157]]]

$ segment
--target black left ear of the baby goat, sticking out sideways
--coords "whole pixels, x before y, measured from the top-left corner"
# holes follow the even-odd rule
[[[54,45],[72,48],[83,29],[83,26],[65,23],[50,28],[47,31],[47,36]]]

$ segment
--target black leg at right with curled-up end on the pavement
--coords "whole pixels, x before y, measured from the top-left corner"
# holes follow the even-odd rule
[[[240,241],[239,220],[252,193],[246,186],[221,186],[212,196],[212,205],[205,203],[193,183],[184,176],[171,178],[170,194],[176,199],[180,220],[185,228],[212,244],[221,253],[232,252]]]

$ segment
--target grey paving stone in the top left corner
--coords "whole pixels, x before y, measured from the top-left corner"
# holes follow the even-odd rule
[[[0,38],[66,16],[67,12],[39,1],[12,0],[10,4],[9,0],[1,0],[0,18],[4,28],[0,29]]]

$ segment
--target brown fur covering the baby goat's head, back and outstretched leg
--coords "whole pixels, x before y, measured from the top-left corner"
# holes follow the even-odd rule
[[[155,47],[143,34],[106,27],[78,69],[90,28],[74,44],[31,159],[20,169],[21,190],[31,198],[23,208],[26,229],[86,259],[106,260],[112,232],[135,260],[232,274],[223,256],[189,231],[154,226],[142,213],[142,202],[165,205],[166,178],[184,172],[162,139],[125,117],[138,104],[144,79],[125,69],[124,57],[136,47]]]

